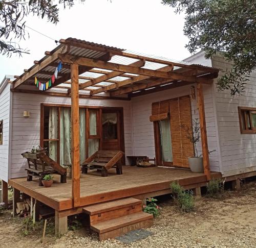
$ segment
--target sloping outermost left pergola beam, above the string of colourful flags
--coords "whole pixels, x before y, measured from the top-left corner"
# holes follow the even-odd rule
[[[43,60],[40,64],[37,64],[34,68],[32,68],[29,72],[27,72],[24,76],[22,76],[20,79],[17,81],[15,80],[14,83],[14,89],[17,88],[20,84],[25,82],[27,79],[30,77],[33,77],[38,73],[39,70],[46,68],[50,63],[55,62],[58,59],[58,54],[59,53],[65,53],[63,51],[63,47],[60,47],[56,52],[52,54],[52,56],[49,56],[45,60]]]

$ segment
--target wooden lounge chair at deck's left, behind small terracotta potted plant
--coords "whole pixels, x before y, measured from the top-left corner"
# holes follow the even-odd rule
[[[47,174],[60,175],[60,182],[67,182],[67,169],[60,166],[52,160],[45,152],[22,153],[22,156],[28,161],[27,181],[32,181],[33,177],[39,178],[39,186],[42,186],[41,180]]]

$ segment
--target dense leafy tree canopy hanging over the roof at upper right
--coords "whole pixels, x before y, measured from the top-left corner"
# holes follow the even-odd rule
[[[256,68],[256,0],[162,0],[184,12],[184,34],[190,53],[203,49],[205,57],[217,52],[233,62],[218,81],[218,89],[241,94],[249,73]]]

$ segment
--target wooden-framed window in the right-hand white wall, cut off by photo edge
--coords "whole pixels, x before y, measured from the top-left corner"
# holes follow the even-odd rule
[[[240,130],[242,134],[256,133],[256,108],[238,107]]]

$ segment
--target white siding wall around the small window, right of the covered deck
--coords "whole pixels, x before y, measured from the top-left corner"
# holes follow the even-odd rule
[[[212,66],[223,71],[231,68],[220,56],[212,58]],[[256,72],[251,73],[241,96],[231,97],[229,91],[218,92],[215,87],[215,101],[223,175],[256,170],[256,134],[241,134],[238,116],[238,106],[256,107]]]

